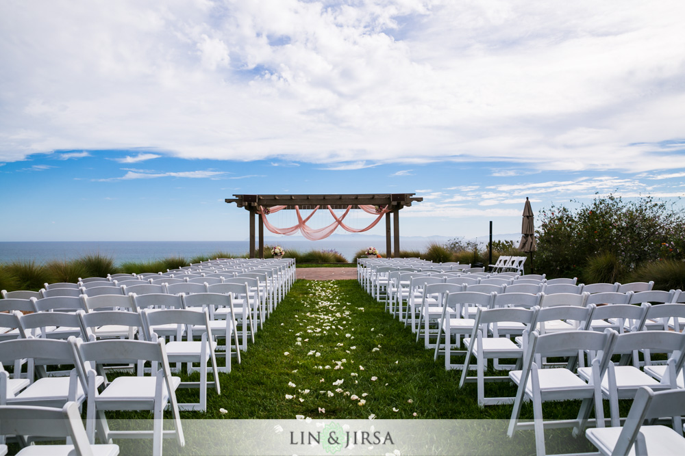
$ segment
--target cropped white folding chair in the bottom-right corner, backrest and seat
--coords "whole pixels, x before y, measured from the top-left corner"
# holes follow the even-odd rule
[[[638,389],[623,427],[587,429],[585,435],[605,456],[680,456],[685,448],[681,416],[685,414],[685,390],[655,392]],[[645,420],[670,416],[673,428],[645,426]]]

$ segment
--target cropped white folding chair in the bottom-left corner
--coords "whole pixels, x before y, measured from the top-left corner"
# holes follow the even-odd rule
[[[119,455],[119,445],[91,445],[88,442],[79,407],[75,402],[67,402],[60,408],[27,405],[0,406],[0,434],[71,440],[71,444],[25,446],[16,453],[17,456]],[[3,453],[0,452],[0,454]]]

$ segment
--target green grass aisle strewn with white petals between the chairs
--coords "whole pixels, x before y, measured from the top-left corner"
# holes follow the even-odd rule
[[[493,423],[497,430],[470,437],[481,442],[481,454],[535,453],[532,431],[519,431],[513,439],[502,433],[497,420],[510,418],[511,405],[479,408],[475,384],[460,389],[460,371],[445,371],[443,359],[434,362],[433,351],[415,339],[356,280],[298,280],[242,354],[242,364],[234,362],[232,373],[220,375],[221,396],[210,389],[208,411],[182,412],[182,418],[489,419],[482,426]],[[180,402],[194,401],[197,390],[177,394]],[[486,384],[486,394],[514,396],[516,390],[508,383]],[[577,401],[546,403],[544,413],[575,418],[579,407]],[[149,418],[147,412],[111,416]],[[522,418],[532,418],[530,404]],[[572,438],[571,429],[545,435],[547,453],[593,449],[584,437]],[[186,441],[181,454],[194,454],[192,436]],[[117,443],[122,454],[133,454],[148,441]],[[167,439],[164,453],[175,451],[174,440]]]

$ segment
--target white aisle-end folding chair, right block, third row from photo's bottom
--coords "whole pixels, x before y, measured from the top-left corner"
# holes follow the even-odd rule
[[[466,381],[476,381],[479,407],[514,402],[514,397],[485,397],[486,381],[510,381],[509,377],[486,377],[485,371],[488,359],[506,358],[520,360],[523,358],[523,353],[525,353],[527,348],[527,335],[532,329],[538,310],[540,309],[537,306],[531,309],[501,307],[491,309],[479,308],[477,310],[471,337],[464,338],[466,357],[464,358],[459,387],[462,388]],[[525,330],[523,330],[523,344],[521,346],[512,342],[509,337],[501,337],[499,334],[498,324],[510,322],[520,323],[525,326]],[[492,328],[491,336],[490,327]],[[472,355],[476,358],[476,377],[468,376]],[[506,368],[509,370],[514,367],[514,365],[503,366],[502,364],[495,366],[495,368]]]

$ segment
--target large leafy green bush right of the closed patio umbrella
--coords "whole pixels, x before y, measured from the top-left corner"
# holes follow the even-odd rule
[[[549,277],[583,275],[588,261],[615,256],[625,273],[651,261],[685,258],[685,218],[681,210],[650,197],[623,201],[596,196],[575,211],[551,206],[540,211],[536,269]],[[592,275],[592,274],[590,274]]]

